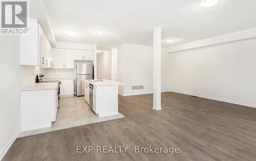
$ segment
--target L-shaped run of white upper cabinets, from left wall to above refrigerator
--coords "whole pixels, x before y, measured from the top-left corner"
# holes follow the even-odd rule
[[[29,34],[20,35],[20,65],[74,69],[75,60],[93,61],[92,50],[53,50],[37,19],[28,19]]]

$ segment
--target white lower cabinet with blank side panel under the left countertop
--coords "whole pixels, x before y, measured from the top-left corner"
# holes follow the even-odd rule
[[[58,110],[58,91],[30,90],[20,93],[20,125],[22,131],[52,126]]]

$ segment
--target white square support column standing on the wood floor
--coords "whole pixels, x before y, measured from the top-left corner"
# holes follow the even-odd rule
[[[153,109],[161,110],[161,28],[154,29]]]

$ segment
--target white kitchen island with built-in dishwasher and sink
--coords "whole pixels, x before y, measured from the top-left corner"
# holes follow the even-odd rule
[[[85,80],[84,85],[84,97],[98,117],[118,114],[118,86],[123,83],[102,79]]]

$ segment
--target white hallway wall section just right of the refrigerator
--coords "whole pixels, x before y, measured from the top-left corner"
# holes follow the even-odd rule
[[[111,50],[97,54],[97,78],[111,80]]]

